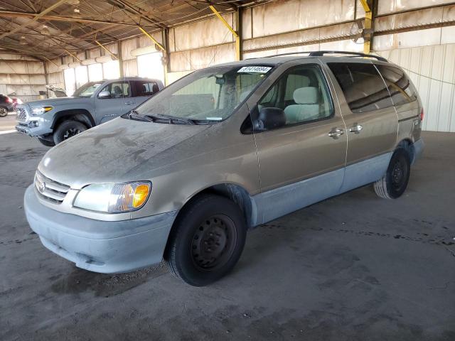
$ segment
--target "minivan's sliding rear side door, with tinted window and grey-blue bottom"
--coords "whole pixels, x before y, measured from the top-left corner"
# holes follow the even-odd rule
[[[385,173],[397,143],[398,118],[385,82],[370,60],[327,65],[348,135],[344,192]]]

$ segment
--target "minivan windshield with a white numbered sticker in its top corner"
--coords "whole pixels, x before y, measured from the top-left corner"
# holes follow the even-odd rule
[[[183,77],[136,109],[137,114],[223,121],[269,75],[271,66],[223,66]]]

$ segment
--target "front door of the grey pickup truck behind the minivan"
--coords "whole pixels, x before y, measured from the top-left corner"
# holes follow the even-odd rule
[[[127,80],[111,82],[100,90],[100,92],[103,91],[107,91],[111,95],[107,98],[95,97],[97,124],[119,117],[136,107],[136,102],[134,97],[132,97],[131,87]]]

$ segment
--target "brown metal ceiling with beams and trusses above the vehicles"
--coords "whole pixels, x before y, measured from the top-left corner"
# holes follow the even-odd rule
[[[40,59],[141,35],[267,1],[1,0],[0,48]],[[68,51],[70,53],[68,53]]]

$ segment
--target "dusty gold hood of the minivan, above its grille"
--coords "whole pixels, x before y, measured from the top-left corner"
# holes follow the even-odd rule
[[[209,128],[117,118],[51,148],[38,169],[72,188],[89,183],[147,180],[143,175],[140,179],[134,176],[178,161],[183,151],[188,153],[188,148],[181,148],[183,142]]]

